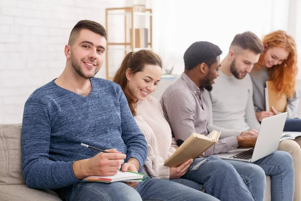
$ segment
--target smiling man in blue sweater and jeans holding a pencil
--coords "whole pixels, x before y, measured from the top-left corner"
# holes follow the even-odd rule
[[[23,116],[22,162],[26,184],[56,189],[64,200],[217,200],[176,182],[79,182],[91,176],[138,172],[147,144],[119,85],[94,78],[106,47],[98,23],[78,22],[71,31],[63,73],[35,90]],[[99,153],[80,146],[105,149]]]

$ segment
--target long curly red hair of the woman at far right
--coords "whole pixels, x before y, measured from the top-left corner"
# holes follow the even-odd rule
[[[264,53],[260,55],[258,68],[265,68],[264,54],[270,47],[284,48],[289,52],[287,59],[281,64],[268,68],[270,80],[275,81],[275,87],[288,97],[292,97],[295,93],[295,77],[297,75],[297,51],[293,38],[285,31],[274,31],[265,35],[262,39]],[[261,67],[260,67],[261,66]]]

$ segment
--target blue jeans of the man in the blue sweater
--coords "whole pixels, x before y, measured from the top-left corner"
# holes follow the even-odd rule
[[[65,187],[61,198],[68,201],[218,201],[217,198],[191,187],[164,179],[147,177],[132,188],[123,182],[78,182]]]

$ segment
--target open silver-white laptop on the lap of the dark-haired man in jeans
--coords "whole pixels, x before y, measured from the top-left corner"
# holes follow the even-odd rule
[[[274,153],[278,149],[286,117],[287,112],[263,119],[254,148],[237,148],[215,156],[252,163]]]

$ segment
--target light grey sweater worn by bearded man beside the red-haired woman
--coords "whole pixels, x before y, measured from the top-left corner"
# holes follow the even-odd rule
[[[259,129],[252,100],[249,74],[243,79],[227,76],[220,70],[212,91],[204,93],[209,108],[209,131],[220,130],[221,138],[239,136],[249,129]]]

